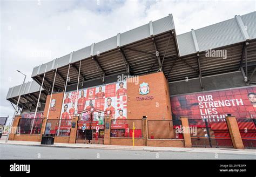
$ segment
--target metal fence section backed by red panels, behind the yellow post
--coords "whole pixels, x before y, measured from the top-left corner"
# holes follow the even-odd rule
[[[111,120],[110,137],[131,138],[134,124],[134,138],[143,137],[142,119]]]

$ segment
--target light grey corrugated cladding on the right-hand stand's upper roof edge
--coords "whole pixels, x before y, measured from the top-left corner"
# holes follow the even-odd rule
[[[242,15],[241,19],[245,28],[247,27],[250,39],[255,39],[256,12]],[[200,52],[245,41],[235,17],[224,22],[194,30],[194,32],[196,33]],[[177,41],[180,56],[196,53],[191,32],[178,35]]]

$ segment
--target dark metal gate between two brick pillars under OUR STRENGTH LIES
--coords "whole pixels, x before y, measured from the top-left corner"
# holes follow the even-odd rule
[[[226,119],[188,119],[193,147],[233,147]]]

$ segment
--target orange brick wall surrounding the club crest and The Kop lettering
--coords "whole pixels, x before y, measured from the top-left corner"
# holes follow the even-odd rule
[[[139,94],[139,85],[148,83],[150,93],[146,96],[153,96],[152,100],[140,100],[136,97],[145,97]],[[171,103],[169,86],[163,72],[139,76],[139,84],[127,81],[127,118],[142,119],[147,115],[148,120],[171,120]]]

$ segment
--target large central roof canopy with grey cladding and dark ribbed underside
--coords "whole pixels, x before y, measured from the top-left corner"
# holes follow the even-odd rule
[[[159,55],[157,55],[159,53]],[[113,74],[127,73],[142,75],[163,71],[166,62],[178,58],[176,34],[173,18],[170,14],[157,21],[140,26],[139,28],[118,33],[117,36],[93,43],[69,55],[39,65],[33,69],[32,78],[42,84],[47,65],[44,89],[51,90],[53,77],[57,69],[55,91],[63,91],[67,79],[68,85],[77,84],[79,65],[80,81],[104,78]]]

